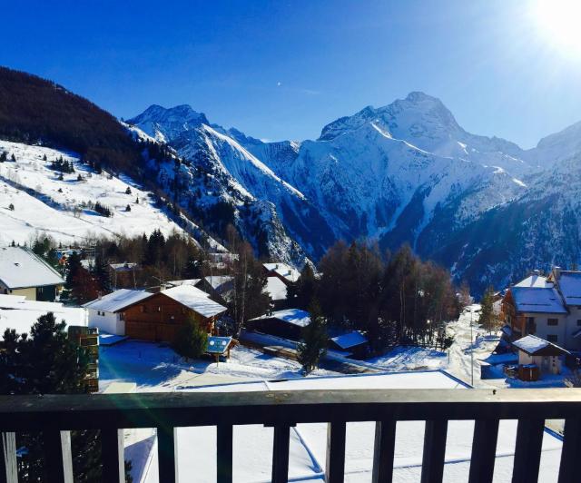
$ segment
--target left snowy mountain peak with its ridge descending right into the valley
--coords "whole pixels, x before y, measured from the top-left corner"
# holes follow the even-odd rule
[[[180,116],[182,121],[176,122]],[[166,140],[189,162],[178,174],[172,166],[162,167],[162,184],[181,178],[182,206],[193,204],[198,211],[229,203],[235,209],[234,222],[262,255],[301,265],[305,251],[322,254],[334,238],[318,207],[221,126],[188,122],[199,118],[191,108],[184,113],[178,106],[163,113],[149,108],[129,121],[133,129]],[[182,129],[176,131],[176,125]]]

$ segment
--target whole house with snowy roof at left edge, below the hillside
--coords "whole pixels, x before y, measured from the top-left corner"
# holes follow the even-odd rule
[[[0,248],[0,293],[54,301],[64,280],[46,261],[22,247]]]

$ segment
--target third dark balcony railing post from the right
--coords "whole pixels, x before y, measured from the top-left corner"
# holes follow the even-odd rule
[[[498,419],[474,422],[468,483],[491,483],[497,457]]]

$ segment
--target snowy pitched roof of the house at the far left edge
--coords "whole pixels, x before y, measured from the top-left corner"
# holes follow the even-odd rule
[[[58,271],[32,251],[21,247],[0,249],[0,281],[9,289],[64,283]]]

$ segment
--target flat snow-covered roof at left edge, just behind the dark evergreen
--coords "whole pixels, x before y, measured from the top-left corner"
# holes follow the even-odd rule
[[[66,325],[87,325],[86,311],[81,307],[64,307],[62,303],[29,301],[24,296],[0,294],[0,332],[15,329],[18,333],[30,332],[34,322],[46,312],[53,312],[56,321]]]

